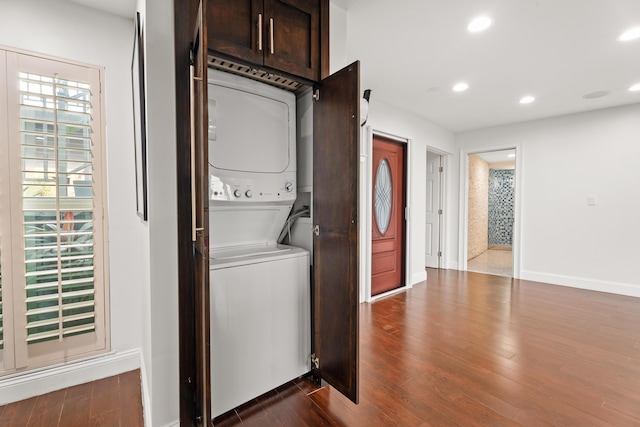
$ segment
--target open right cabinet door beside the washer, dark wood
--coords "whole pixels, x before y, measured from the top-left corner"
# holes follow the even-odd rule
[[[314,99],[312,370],[358,403],[360,63],[322,80]]]

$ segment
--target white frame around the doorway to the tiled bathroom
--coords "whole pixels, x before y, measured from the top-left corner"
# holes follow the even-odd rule
[[[515,172],[515,192],[513,202],[513,278],[520,278],[521,242],[520,235],[522,229],[522,187],[523,187],[523,159],[524,152],[521,142],[513,144],[473,146],[460,149],[460,217],[458,232],[458,270],[467,271],[467,246],[469,243],[469,156],[471,154],[484,153],[487,151],[515,150],[516,172]]]

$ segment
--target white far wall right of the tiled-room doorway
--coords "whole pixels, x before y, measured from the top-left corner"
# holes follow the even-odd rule
[[[522,279],[633,296],[638,141],[640,104],[456,135],[460,148],[522,144]]]

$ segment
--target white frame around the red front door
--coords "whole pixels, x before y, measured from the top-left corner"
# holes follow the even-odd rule
[[[362,129],[363,136],[360,138],[360,224],[364,229],[360,231],[360,302],[372,302],[376,299],[392,295],[397,292],[410,289],[411,281],[411,248],[412,243],[412,227],[410,197],[412,190],[411,180],[411,152],[412,141],[409,138],[403,138],[388,132],[374,129],[371,126],[365,126]],[[373,225],[373,211],[371,209],[373,203],[373,136],[377,135],[383,138],[391,139],[395,142],[405,144],[405,215],[404,219],[404,251],[405,262],[404,268],[404,284],[397,289],[385,292],[379,295],[371,296],[371,227]]]

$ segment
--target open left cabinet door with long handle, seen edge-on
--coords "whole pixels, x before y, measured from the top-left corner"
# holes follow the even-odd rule
[[[209,139],[207,94],[207,2],[201,1],[192,43],[191,63],[191,239],[195,265],[195,409],[196,419],[210,423],[209,321]]]

